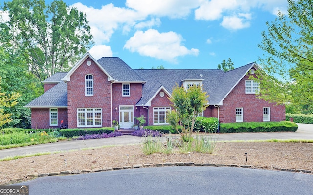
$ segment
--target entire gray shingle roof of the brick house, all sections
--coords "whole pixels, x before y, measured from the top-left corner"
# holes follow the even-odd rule
[[[170,94],[176,83],[180,86],[182,80],[202,80],[203,90],[209,95],[210,105],[219,105],[233,87],[245,76],[245,73],[254,63],[224,72],[222,70],[205,69],[140,69],[133,70],[123,60],[117,57],[104,57],[98,63],[118,81],[145,83],[142,86],[142,98],[138,99],[136,105],[145,105],[163,86]],[[60,82],[66,75],[60,72],[45,79],[44,83],[58,83],[46,91],[40,97],[28,103],[25,107],[67,107],[67,83]]]

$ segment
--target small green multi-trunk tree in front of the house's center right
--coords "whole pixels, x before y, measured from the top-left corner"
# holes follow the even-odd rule
[[[179,121],[181,127],[181,133],[179,133],[182,140],[188,141],[191,139],[198,113],[208,107],[208,97],[199,85],[193,85],[189,89],[176,85],[173,89],[172,98],[169,99],[173,103],[172,107],[174,109],[167,120],[177,132],[179,131],[176,125],[177,121]]]

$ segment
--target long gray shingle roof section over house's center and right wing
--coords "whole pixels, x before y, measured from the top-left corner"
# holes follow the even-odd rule
[[[199,79],[203,81],[203,91],[209,95],[208,101],[210,105],[219,105],[225,98],[227,93],[244,77],[245,73],[253,63],[236,68],[231,71],[224,72],[222,70],[134,70],[138,75],[147,80],[147,83],[142,88],[142,98],[137,105],[146,104],[157,92],[164,86],[169,93],[172,93],[173,87],[177,83],[181,86],[183,79]],[[202,77],[200,77],[200,74]],[[195,78],[189,77],[194,75]],[[187,77],[186,77],[187,76]]]

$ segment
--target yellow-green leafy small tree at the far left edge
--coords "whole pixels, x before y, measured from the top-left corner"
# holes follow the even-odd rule
[[[2,78],[0,77],[0,83],[1,79]],[[7,95],[5,92],[1,92],[0,87],[0,127],[2,127],[5,123],[12,121],[12,119],[10,118],[12,114],[4,113],[3,108],[10,108],[12,106],[15,106],[18,103],[16,100],[20,96],[21,95],[19,93],[12,93],[10,95]]]

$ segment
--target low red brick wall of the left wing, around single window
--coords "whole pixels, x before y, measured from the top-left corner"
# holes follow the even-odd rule
[[[50,126],[50,109],[49,108],[32,108],[31,109],[31,128],[48,129],[60,128],[61,120],[67,125],[67,108],[58,108],[58,126]]]

